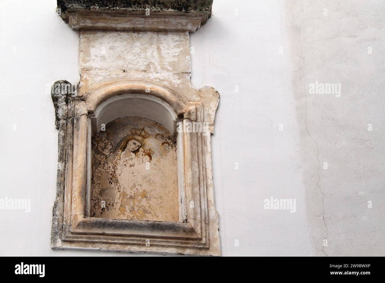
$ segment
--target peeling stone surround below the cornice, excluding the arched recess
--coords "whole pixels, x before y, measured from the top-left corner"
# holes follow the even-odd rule
[[[162,18],[163,15],[168,17],[169,13],[170,11],[167,11],[167,14],[158,12],[157,17]],[[205,15],[207,19],[207,13]],[[193,14],[193,17],[195,18],[196,14]],[[104,22],[105,19],[97,18],[88,22],[92,24],[99,21]],[[179,21],[176,22],[178,25]],[[148,32],[146,28],[146,33],[134,35],[140,43],[141,40],[148,40],[153,36],[147,34]],[[180,48],[175,57],[167,62],[163,60],[161,54],[154,58],[152,64],[157,65],[158,70],[152,73],[142,70],[141,66],[128,66],[127,72],[110,68],[108,62],[111,57],[104,58],[103,64],[98,63],[99,59],[93,60],[92,49],[100,43],[100,38],[106,36],[112,38],[113,44],[116,37],[121,44],[121,37],[131,38],[132,31],[124,31],[122,34],[118,29],[95,35],[95,31],[80,29],[82,78],[77,93],[71,95],[66,89],[55,91],[55,86],[52,91],[56,126],[59,128],[59,166],[52,224],[52,248],[220,255],[218,214],[214,207],[211,171],[211,134],[219,95],[211,87],[196,90],[190,85],[188,32],[186,30],[154,32],[154,36],[162,39],[163,43],[167,42],[168,37],[172,37],[172,42],[175,42],[175,39],[179,40]],[[87,41],[82,42],[82,35],[87,37]],[[144,43],[147,46],[144,48],[151,46],[147,42]],[[179,59],[179,54],[184,56],[182,60]],[[110,56],[114,57],[114,54]],[[123,56],[122,61],[125,60],[128,59]],[[113,65],[116,66],[116,62]],[[203,132],[177,134],[181,200],[179,222],[133,221],[89,216],[91,121],[100,105],[111,98],[127,95],[140,95],[167,105],[174,113],[175,122],[194,121],[209,125],[210,134]]]

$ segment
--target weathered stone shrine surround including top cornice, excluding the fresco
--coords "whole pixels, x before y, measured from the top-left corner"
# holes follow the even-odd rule
[[[212,1],[206,1],[199,11],[190,3],[189,13],[161,9],[151,12],[152,16],[144,16],[139,10],[132,13],[129,4],[106,13],[103,7],[90,10],[77,5],[81,1],[60,2],[59,8],[62,12],[65,10],[62,17],[73,28],[81,29],[81,79],[75,95],[52,93],[59,128],[52,248],[220,255],[210,138],[219,94],[209,87],[196,90],[191,86],[190,41],[186,33],[193,32],[207,20]],[[148,6],[147,2],[143,5]],[[143,21],[143,17],[152,18]],[[160,29],[164,33],[160,34]],[[135,52],[131,52],[133,42],[140,45]],[[106,44],[110,46],[101,56],[99,50],[107,47]],[[148,119],[161,124],[176,137],[177,221],[103,218],[90,214],[92,137],[104,132],[101,124],[108,130],[121,117]],[[198,126],[208,126],[209,131],[189,131],[187,127],[186,130],[183,127],[182,132],[179,127],[176,130],[176,117],[183,125],[195,122]],[[133,131],[146,137],[144,144],[150,153],[153,148],[151,151],[147,148],[150,137],[145,132],[151,136],[151,131],[146,126],[144,132]],[[119,141],[114,142],[107,154],[114,152],[118,144]],[[156,165],[154,159],[151,166]],[[162,205],[161,199],[159,203]]]

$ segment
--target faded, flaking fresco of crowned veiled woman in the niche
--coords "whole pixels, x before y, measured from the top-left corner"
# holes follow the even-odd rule
[[[92,137],[91,217],[179,221],[175,137],[138,116]]]

